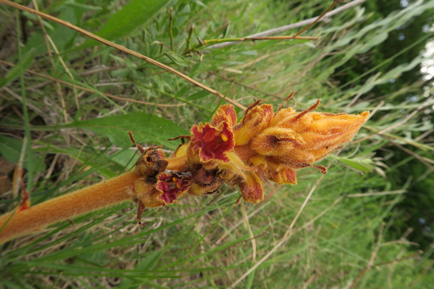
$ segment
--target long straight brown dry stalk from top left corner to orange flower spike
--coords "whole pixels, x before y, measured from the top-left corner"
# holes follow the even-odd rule
[[[6,5],[10,6],[10,7],[14,7],[16,9],[20,9],[20,10],[23,10],[23,11],[26,11],[26,12],[29,12],[29,13],[32,13],[32,14],[35,14],[35,15],[39,15],[39,16],[41,16],[43,18],[46,18],[46,19],[51,20],[53,22],[56,22],[56,23],[59,23],[61,25],[66,26],[66,27],[69,27],[72,30],[76,30],[77,32],[82,33],[82,34],[84,34],[86,36],[89,36],[90,38],[95,39],[95,40],[97,40],[97,41],[99,41],[101,43],[104,43],[107,46],[111,46],[111,47],[116,48],[118,50],[121,50],[121,51],[123,51],[125,53],[128,53],[128,54],[130,54],[132,56],[135,56],[135,57],[137,57],[139,59],[143,59],[143,60],[145,60],[145,61],[147,61],[147,62],[149,62],[151,64],[154,64],[155,66],[158,66],[158,67],[160,67],[160,68],[162,68],[164,70],[167,70],[167,71],[173,73],[174,75],[179,76],[179,77],[187,80],[188,82],[191,82],[195,86],[200,87],[201,89],[206,90],[207,92],[210,92],[210,93],[212,93],[214,95],[217,95],[220,98],[224,98],[227,102],[230,102],[233,105],[236,105],[237,107],[239,107],[239,108],[241,108],[243,110],[247,109],[244,105],[239,104],[238,102],[234,101],[233,99],[230,99],[228,97],[224,97],[224,95],[221,94],[220,92],[218,92],[217,90],[211,89],[207,85],[204,85],[201,82],[198,82],[197,80],[194,80],[194,79],[192,79],[189,76],[186,76],[185,74],[179,72],[176,69],[171,68],[170,66],[167,66],[167,65],[165,65],[165,64],[163,64],[161,62],[158,62],[158,61],[156,61],[156,60],[154,60],[152,58],[149,58],[148,56],[144,56],[144,55],[142,55],[140,53],[132,51],[131,49],[128,49],[128,48],[125,48],[125,47],[123,47],[121,45],[115,44],[115,43],[113,43],[113,42],[111,42],[109,40],[106,40],[106,39],[104,39],[102,37],[99,37],[99,36],[93,34],[93,33],[90,33],[90,32],[88,32],[88,31],[86,31],[86,30],[84,30],[84,29],[82,29],[82,28],[80,28],[78,26],[72,25],[69,22],[63,21],[63,20],[61,20],[59,18],[56,18],[56,17],[51,16],[51,15],[46,14],[46,13],[42,13],[42,12],[36,11],[36,10],[31,9],[29,7],[26,7],[26,6],[17,4],[17,3],[10,2],[8,0],[0,0],[0,3],[6,4]]]

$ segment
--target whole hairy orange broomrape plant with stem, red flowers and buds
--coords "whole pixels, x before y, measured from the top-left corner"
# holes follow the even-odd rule
[[[184,194],[213,194],[224,183],[238,186],[244,201],[259,203],[263,183],[295,185],[296,170],[304,167],[325,174],[325,167],[314,163],[343,148],[369,115],[314,112],[319,100],[302,112],[283,108],[285,102],[274,112],[272,105],[260,102],[250,105],[240,122],[232,105],[221,105],[211,122],[173,138],[182,144],[168,158],[161,146],[144,149],[129,132],[142,153],[132,170],[33,207],[22,202],[0,217],[0,243],[127,200],[138,203],[141,224],[146,207],[174,204]]]

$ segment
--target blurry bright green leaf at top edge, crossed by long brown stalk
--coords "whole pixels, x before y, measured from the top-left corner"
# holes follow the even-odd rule
[[[96,35],[114,40],[127,36],[132,30],[145,24],[155,13],[157,13],[168,0],[132,0],[125,4],[121,10],[113,14],[107,23]],[[89,39],[77,49],[85,49],[99,44],[94,39]]]

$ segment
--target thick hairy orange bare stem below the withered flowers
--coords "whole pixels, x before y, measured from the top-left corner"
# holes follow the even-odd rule
[[[0,216],[0,230],[3,228],[0,232],[0,244],[50,224],[132,200],[132,190],[139,177],[141,175],[136,170],[132,170],[107,181],[47,200],[26,210],[5,213]]]

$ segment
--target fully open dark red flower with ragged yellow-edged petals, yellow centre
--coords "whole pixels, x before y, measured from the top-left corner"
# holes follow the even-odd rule
[[[193,138],[191,150],[199,154],[203,162],[210,160],[221,160],[228,162],[226,153],[233,150],[233,132],[227,122],[223,122],[221,131],[212,127],[209,123],[191,128]]]

